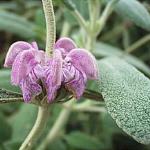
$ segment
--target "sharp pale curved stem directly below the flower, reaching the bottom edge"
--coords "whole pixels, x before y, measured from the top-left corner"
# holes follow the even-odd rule
[[[34,143],[36,142],[38,137],[41,135],[45,127],[47,118],[48,118],[48,107],[39,107],[36,122],[31,132],[29,133],[29,135],[27,136],[27,138],[25,139],[25,141],[23,142],[19,150],[31,150],[32,149]]]

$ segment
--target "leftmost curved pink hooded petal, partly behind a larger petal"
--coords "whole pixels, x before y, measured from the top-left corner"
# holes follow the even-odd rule
[[[11,67],[16,56],[20,52],[22,52],[24,50],[28,50],[30,48],[32,48],[32,45],[27,42],[24,42],[24,41],[15,42],[14,44],[12,44],[6,55],[4,66]]]

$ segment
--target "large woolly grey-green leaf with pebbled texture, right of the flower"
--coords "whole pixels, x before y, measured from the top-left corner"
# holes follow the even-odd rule
[[[108,112],[135,140],[150,143],[150,80],[125,61],[99,61],[99,88]]]

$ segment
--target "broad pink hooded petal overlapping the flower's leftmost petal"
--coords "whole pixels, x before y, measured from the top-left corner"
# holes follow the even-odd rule
[[[36,66],[37,61],[34,58],[35,50],[26,50],[17,55],[11,73],[11,81],[14,85],[24,79]]]

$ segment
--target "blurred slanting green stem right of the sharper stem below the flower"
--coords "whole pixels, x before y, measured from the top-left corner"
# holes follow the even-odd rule
[[[49,131],[48,135],[39,146],[38,150],[45,150],[48,144],[52,143],[59,136],[62,128],[69,119],[71,108],[74,105],[74,103],[75,100],[71,100],[66,104],[69,109],[67,108],[62,109],[57,120],[55,121],[55,124],[53,125],[52,129]]]

